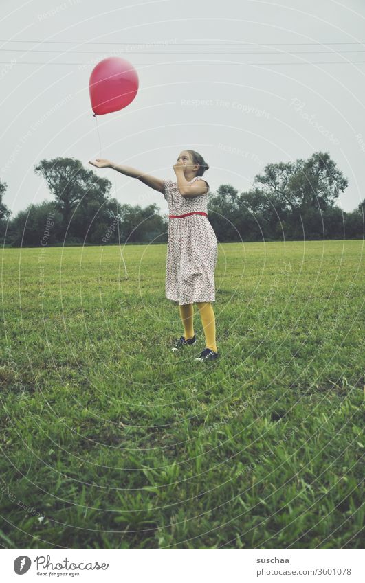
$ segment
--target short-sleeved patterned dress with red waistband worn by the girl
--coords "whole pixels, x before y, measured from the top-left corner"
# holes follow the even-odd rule
[[[195,176],[190,183],[196,180],[204,179]],[[184,198],[177,182],[164,180],[164,197],[169,214],[207,213],[208,192]],[[217,238],[207,216],[192,214],[169,218],[166,298],[178,301],[179,306],[197,301],[215,301],[214,269],[217,257]]]

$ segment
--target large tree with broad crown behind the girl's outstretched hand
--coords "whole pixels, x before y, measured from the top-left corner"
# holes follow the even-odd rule
[[[71,215],[80,205],[83,209],[93,201],[102,205],[111,189],[111,182],[86,170],[80,160],[54,158],[41,160],[34,172],[43,176],[49,190],[56,197],[56,207],[63,215],[63,227],[67,229]]]

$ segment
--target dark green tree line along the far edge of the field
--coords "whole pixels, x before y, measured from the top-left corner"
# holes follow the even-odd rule
[[[74,158],[41,160],[34,172],[53,201],[31,204],[15,216],[3,204],[0,180],[0,240],[10,247],[161,243],[168,216],[155,204],[120,204],[111,182]],[[344,212],[335,202],[348,180],[329,152],[309,159],[267,164],[252,188],[222,184],[208,197],[208,216],[219,242],[362,239],[364,202]]]

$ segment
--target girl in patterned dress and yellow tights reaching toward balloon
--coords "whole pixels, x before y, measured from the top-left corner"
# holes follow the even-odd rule
[[[193,303],[196,303],[206,337],[206,347],[195,361],[212,361],[219,353],[215,339],[214,269],[217,264],[217,238],[208,220],[208,182],[202,176],[209,166],[198,152],[184,150],[174,165],[176,181],[142,174],[135,168],[97,158],[89,161],[96,168],[114,168],[139,179],[164,194],[168,203],[168,246],[166,258],[166,298],[179,303],[184,336],[176,339],[172,350],[196,342]]]

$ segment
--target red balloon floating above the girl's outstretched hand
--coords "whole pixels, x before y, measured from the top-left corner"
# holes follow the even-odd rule
[[[104,115],[129,105],[138,91],[138,76],[133,65],[120,57],[109,57],[93,68],[89,93],[93,113]]]

